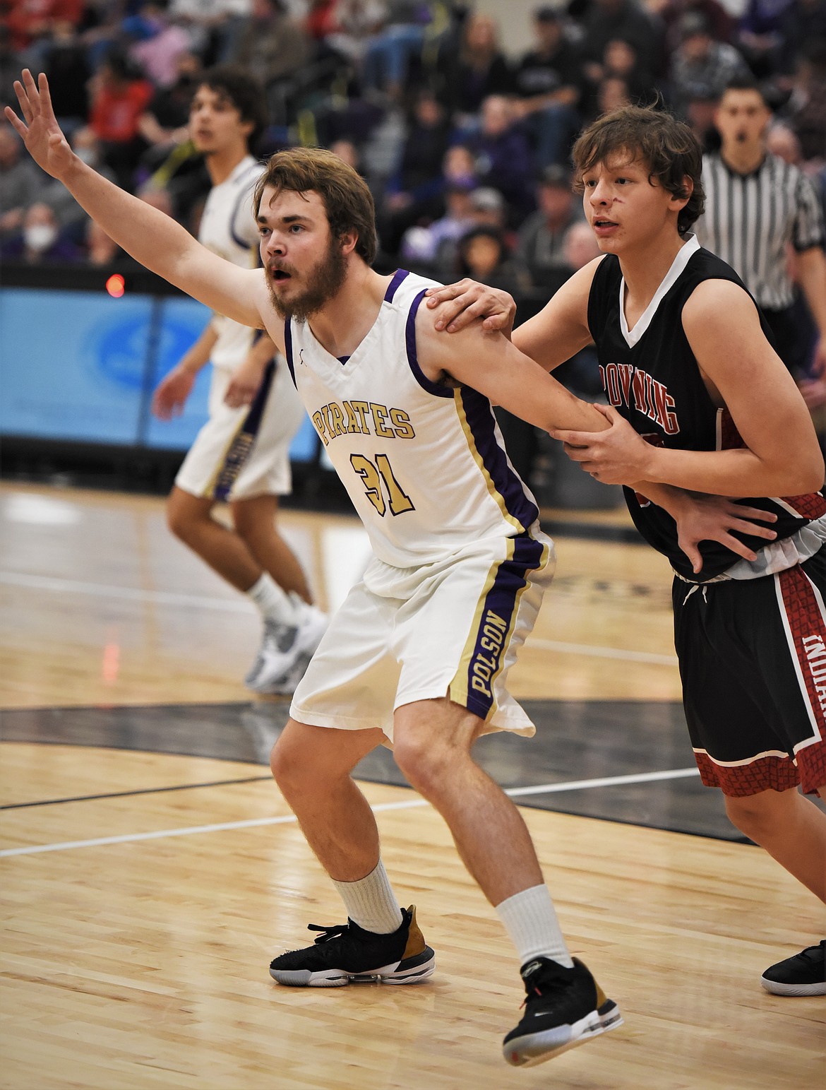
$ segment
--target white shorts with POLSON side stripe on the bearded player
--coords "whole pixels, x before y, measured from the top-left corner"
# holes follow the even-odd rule
[[[508,692],[508,670],[555,562],[538,524],[416,568],[374,557],[332,618],[290,715],[320,727],[379,727],[392,741],[397,707],[449,697],[485,720],[485,734],[533,735]]]

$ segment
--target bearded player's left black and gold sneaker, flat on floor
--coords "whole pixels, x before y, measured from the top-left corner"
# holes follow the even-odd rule
[[[433,976],[436,955],[416,923],[415,905],[401,915],[401,927],[389,935],[365,931],[352,920],[336,928],[311,923],[309,931],[321,932],[315,944],[281,954],[270,961],[269,974],[293,988],[341,988],[361,981],[418,984]]]

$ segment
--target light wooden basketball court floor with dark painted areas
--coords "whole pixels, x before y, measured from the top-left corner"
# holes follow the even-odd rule
[[[514,956],[386,752],[359,775],[436,976],[270,981],[275,954],[342,912],[266,767],[287,701],[240,681],[254,611],[170,537],[160,499],[0,486],[0,1086],[823,1085],[826,1002],[758,983],[823,936],[823,907],[699,784],[668,572],[621,516],[588,521],[575,535],[551,518],[558,574],[513,671],[537,737],[478,754],[524,807],[572,952],[625,1025],[519,1071],[500,1054],[522,1000]],[[616,540],[594,540],[594,522]],[[295,511],[282,524],[335,607],[362,531]]]

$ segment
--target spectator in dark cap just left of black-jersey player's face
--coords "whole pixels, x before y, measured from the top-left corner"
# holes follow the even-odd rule
[[[538,208],[519,229],[517,254],[536,288],[556,288],[564,268],[566,232],[582,220],[581,202],[574,197],[571,171],[550,166],[543,171],[536,187]]]

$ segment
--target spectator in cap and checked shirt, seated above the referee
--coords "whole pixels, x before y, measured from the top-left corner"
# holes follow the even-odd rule
[[[749,69],[733,46],[715,41],[705,16],[689,12],[680,20],[681,45],[669,72],[671,105],[682,118],[692,99],[719,98],[732,80],[746,78]]]

